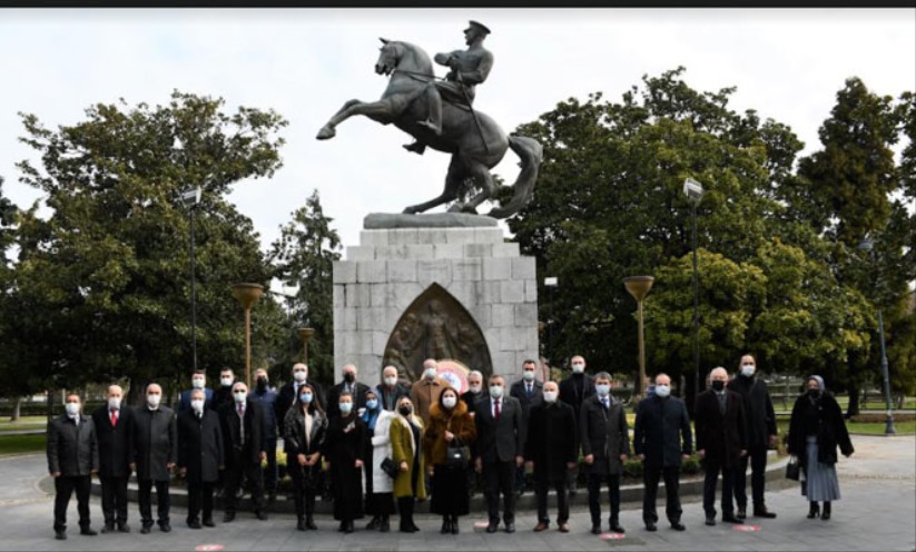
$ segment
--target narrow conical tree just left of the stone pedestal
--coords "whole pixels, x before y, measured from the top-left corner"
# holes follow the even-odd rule
[[[317,190],[292,217],[290,223],[280,227],[280,237],[274,241],[269,257],[275,277],[296,288],[295,295],[286,298],[289,319],[295,327],[315,329],[308,342],[309,374],[329,384],[334,374],[332,275],[334,262],[341,259],[341,238],[331,227],[334,219],[324,214]],[[292,356],[297,358],[302,342],[297,335],[288,335],[290,351],[296,352]],[[288,374],[288,369],[283,369],[283,376]]]

